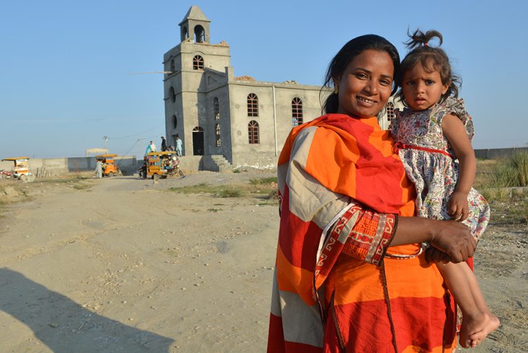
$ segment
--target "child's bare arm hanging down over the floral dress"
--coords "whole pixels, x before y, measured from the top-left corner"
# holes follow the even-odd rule
[[[454,220],[463,221],[470,214],[467,204],[467,194],[473,186],[476,171],[476,158],[470,138],[467,137],[462,121],[452,114],[442,119],[442,131],[450,145],[453,147],[456,158],[459,160],[459,180],[452,193],[448,213]]]

